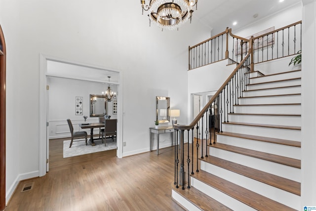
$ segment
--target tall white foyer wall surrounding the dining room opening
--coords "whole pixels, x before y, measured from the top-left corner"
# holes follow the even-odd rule
[[[193,21],[179,31],[161,32],[148,26],[139,2],[123,3],[1,0],[10,117],[6,141],[14,143],[7,144],[6,200],[16,182],[39,175],[39,143],[45,141],[39,138],[40,54],[121,72],[123,156],[149,151],[156,95],[169,96],[171,108],[187,111],[188,45],[209,31]],[[186,121],[183,112],[178,122]]]

